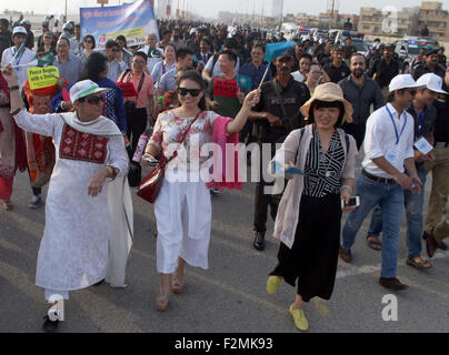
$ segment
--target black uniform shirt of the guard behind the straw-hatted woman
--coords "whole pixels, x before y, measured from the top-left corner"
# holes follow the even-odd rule
[[[276,82],[276,83],[275,83]],[[276,94],[275,84],[279,88],[279,93],[282,98],[286,108],[287,118],[283,116],[280,100]],[[306,84],[296,81],[292,77],[286,88],[273,79],[265,82],[261,87],[260,101],[255,106],[255,111],[270,112],[285,121],[285,126],[271,126],[267,120],[259,120],[259,140],[261,142],[279,142],[279,139],[285,138],[293,129],[299,129],[305,124],[305,118],[299,112],[299,109],[310,99],[310,91]],[[287,124],[286,124],[286,121]],[[293,123],[293,126],[289,123]]]

